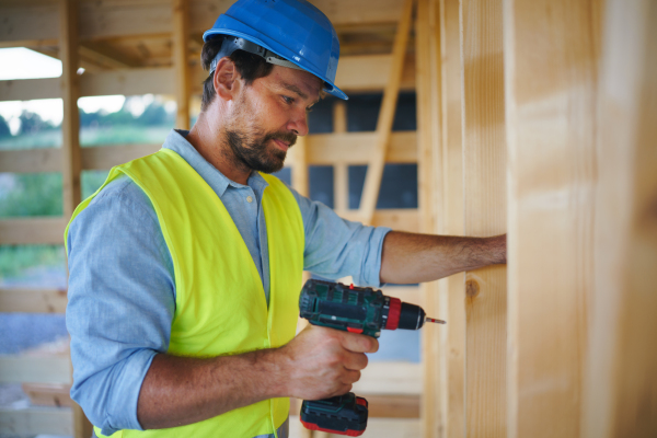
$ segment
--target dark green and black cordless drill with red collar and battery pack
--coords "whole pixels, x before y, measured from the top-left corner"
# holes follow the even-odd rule
[[[424,310],[380,290],[341,283],[308,280],[299,297],[299,311],[313,325],[379,337],[381,328],[418,330],[425,322],[445,324],[426,318]],[[357,437],[367,427],[368,403],[353,392],[301,404],[301,423],[311,430]]]

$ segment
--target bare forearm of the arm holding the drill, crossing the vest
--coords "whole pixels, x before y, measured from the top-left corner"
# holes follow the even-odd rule
[[[159,354],[143,379],[137,417],[145,429],[183,426],[283,396],[273,349],[195,359]]]

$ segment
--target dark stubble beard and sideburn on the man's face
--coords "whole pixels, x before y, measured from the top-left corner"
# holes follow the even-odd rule
[[[232,151],[231,161],[241,170],[274,173],[283,169],[287,151],[268,146],[270,140],[280,140],[291,148],[297,142],[292,132],[265,132],[249,115],[244,100],[239,103],[232,123],[226,128],[226,140]]]

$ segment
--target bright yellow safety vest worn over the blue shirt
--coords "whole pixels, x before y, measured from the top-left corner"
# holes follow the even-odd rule
[[[71,222],[122,174],[150,198],[173,260],[176,297],[169,354],[235,355],[280,347],[295,337],[304,233],[301,211],[285,184],[263,174],[268,183],[262,200],[269,249],[267,309],[257,268],[232,218],[210,186],[172,150],[112,169],[103,186],[78,206]],[[65,242],[67,235],[68,227]],[[289,399],[272,399],[187,426],[126,429],[112,437],[251,438],[276,434],[288,413]],[[104,437],[97,427],[94,430]]]

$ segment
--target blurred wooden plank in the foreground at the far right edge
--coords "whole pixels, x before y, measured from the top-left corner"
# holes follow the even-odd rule
[[[657,436],[657,4],[610,0],[598,88],[584,438]]]

